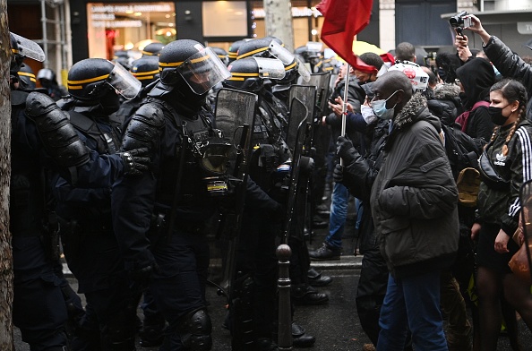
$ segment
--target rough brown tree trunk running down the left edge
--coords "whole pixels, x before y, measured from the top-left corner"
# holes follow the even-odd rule
[[[0,350],[13,347],[13,253],[9,232],[9,181],[11,177],[11,99],[9,64],[11,47],[7,3],[0,0]]]

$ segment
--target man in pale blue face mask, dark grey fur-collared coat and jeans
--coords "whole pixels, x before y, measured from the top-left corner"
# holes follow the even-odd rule
[[[339,155],[346,166],[335,169],[335,178],[347,184],[351,193],[372,203],[376,242],[384,258],[382,263],[390,270],[382,301],[381,330],[368,329],[375,327],[374,315],[372,320],[371,314],[362,314],[361,322],[377,349],[402,350],[409,329],[416,347],[446,350],[440,314],[440,270],[450,266],[458,248],[458,192],[444,156],[439,120],[428,112],[421,94],[412,97],[412,82],[404,73],[385,73],[373,88],[371,105],[376,116],[390,121],[390,135],[373,139],[372,150],[377,151],[367,160],[353,152],[345,138],[339,138]],[[376,127],[375,131],[381,129]],[[435,230],[429,224],[434,221],[439,223]],[[407,237],[412,240],[405,242]],[[378,253],[374,259],[380,261]],[[378,270],[381,265],[375,262],[368,264]],[[430,291],[421,293],[423,298],[416,297],[417,284],[430,286]],[[368,304],[380,307],[378,300],[372,303],[376,297],[359,291],[359,311],[368,310]],[[419,304],[421,300],[426,304]],[[405,308],[406,304],[416,307]],[[407,317],[407,311],[420,314]],[[430,335],[423,330],[427,325],[433,330]]]

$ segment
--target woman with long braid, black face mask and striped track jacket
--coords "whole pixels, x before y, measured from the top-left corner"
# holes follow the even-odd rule
[[[526,118],[527,90],[503,79],[490,90],[489,116],[495,124],[479,160],[481,179],[478,217],[471,228],[478,239],[476,288],[481,350],[496,350],[501,330],[500,295],[532,327],[530,287],[511,273],[508,262],[519,249],[511,240],[518,228],[519,188],[532,178],[532,123]]]

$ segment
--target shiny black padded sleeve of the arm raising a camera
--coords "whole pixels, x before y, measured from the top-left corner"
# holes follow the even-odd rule
[[[483,47],[485,55],[502,76],[518,79],[527,88],[528,97],[532,96],[532,66],[514,55],[510,47],[495,36],[492,36]],[[528,101],[527,116],[528,119],[532,116],[532,99]]]

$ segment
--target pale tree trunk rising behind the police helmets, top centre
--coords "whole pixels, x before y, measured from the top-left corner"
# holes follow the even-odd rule
[[[288,51],[294,51],[292,5],[289,0],[263,0],[266,36],[279,38]]]

